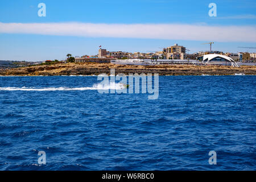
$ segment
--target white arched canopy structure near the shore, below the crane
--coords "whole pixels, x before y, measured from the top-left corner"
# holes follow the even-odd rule
[[[198,57],[205,64],[221,64],[221,65],[232,65],[232,67],[239,67],[239,65],[231,57],[218,55],[218,54],[209,54]]]

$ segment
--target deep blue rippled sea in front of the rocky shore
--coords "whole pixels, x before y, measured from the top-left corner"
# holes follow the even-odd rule
[[[0,170],[256,169],[256,76],[160,76],[156,100],[99,82],[0,77]]]

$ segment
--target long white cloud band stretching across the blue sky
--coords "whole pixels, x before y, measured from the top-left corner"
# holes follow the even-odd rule
[[[105,23],[1,23],[0,33],[256,42],[255,26],[207,26],[203,24],[105,24]]]

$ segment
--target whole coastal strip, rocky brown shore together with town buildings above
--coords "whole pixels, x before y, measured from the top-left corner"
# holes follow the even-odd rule
[[[179,44],[156,52],[108,51],[97,55],[66,55],[65,60],[39,62],[0,61],[1,76],[110,75],[115,73],[159,73],[159,75],[256,75],[256,53],[210,51],[189,53]],[[248,48],[253,49],[253,48]]]

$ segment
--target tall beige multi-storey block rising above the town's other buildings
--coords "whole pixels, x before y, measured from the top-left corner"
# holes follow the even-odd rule
[[[164,50],[163,50],[164,51]],[[185,59],[186,48],[183,46],[174,46],[167,47],[167,59]]]

